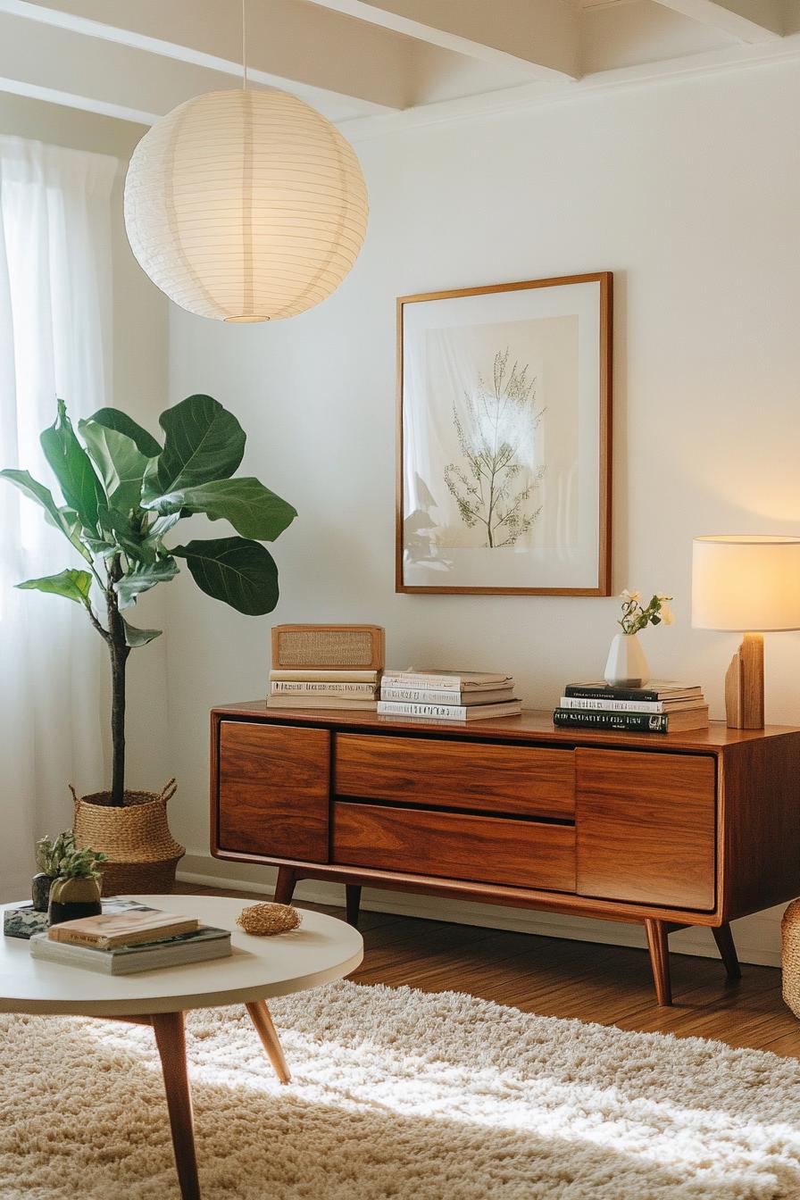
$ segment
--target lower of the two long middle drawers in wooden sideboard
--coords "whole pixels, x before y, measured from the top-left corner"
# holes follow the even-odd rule
[[[333,804],[333,862],[575,892],[575,827],[463,812]]]

